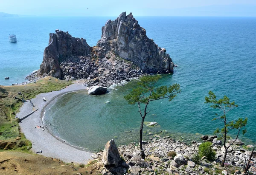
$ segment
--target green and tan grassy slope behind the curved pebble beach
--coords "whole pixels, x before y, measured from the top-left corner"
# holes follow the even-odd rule
[[[23,103],[15,99],[15,96],[20,99],[32,99],[39,93],[61,90],[70,84],[72,82],[48,77],[28,85],[0,86],[0,141],[14,141],[15,138],[20,137],[14,149],[26,151],[27,147],[31,147],[30,141],[20,133],[18,121],[15,119],[15,114]],[[21,92],[22,96],[18,95],[18,92]],[[11,127],[14,125],[17,126]],[[21,144],[20,141],[22,141]],[[18,144],[22,146],[19,147]]]

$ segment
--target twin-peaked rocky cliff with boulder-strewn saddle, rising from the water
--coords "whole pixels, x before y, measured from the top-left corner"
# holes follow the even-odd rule
[[[120,59],[129,61],[128,65],[116,61]],[[103,65],[113,65],[106,70],[113,72],[107,77],[114,80],[134,77],[139,72],[173,73],[173,62],[166,49],[158,47],[146,36],[145,29],[131,13],[123,12],[116,20],[107,21],[102,27],[101,39],[93,48],[83,38],[74,38],[68,32],[56,30],[55,34],[50,33],[39,74],[61,79],[87,79],[91,81],[88,85],[93,85],[92,79],[105,76],[100,71],[104,70]]]

